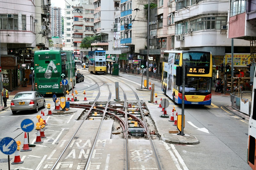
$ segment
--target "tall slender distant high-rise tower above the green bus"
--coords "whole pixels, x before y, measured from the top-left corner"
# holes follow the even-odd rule
[[[58,36],[61,37],[61,9],[60,7],[52,7],[50,9],[51,12],[51,24],[50,24],[50,30],[51,30],[51,36]]]

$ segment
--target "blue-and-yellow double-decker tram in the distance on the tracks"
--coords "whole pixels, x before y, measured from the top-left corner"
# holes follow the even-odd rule
[[[106,51],[102,48],[98,48],[94,51],[88,52],[89,56],[89,72],[90,73],[106,73]]]

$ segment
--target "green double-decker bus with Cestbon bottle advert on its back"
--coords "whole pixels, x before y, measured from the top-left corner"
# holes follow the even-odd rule
[[[66,65],[66,90],[72,89],[76,84],[75,58],[72,51],[39,50],[35,51],[35,91],[41,94],[63,94],[61,83],[63,76],[61,65]],[[72,82],[71,82],[72,80]],[[73,84],[72,84],[73,83]]]

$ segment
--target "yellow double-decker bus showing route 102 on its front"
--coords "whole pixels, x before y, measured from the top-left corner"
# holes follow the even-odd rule
[[[211,105],[212,53],[205,51],[164,51],[162,90],[175,103],[182,103],[182,74],[176,68],[186,59],[185,104]],[[179,76],[179,77],[178,77]],[[177,83],[178,84],[178,83]]]

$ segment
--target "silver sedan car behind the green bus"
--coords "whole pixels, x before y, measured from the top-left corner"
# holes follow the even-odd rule
[[[37,113],[38,108],[40,107],[45,108],[45,100],[37,91],[19,92],[11,101],[11,110],[13,114],[22,110],[33,110]]]

